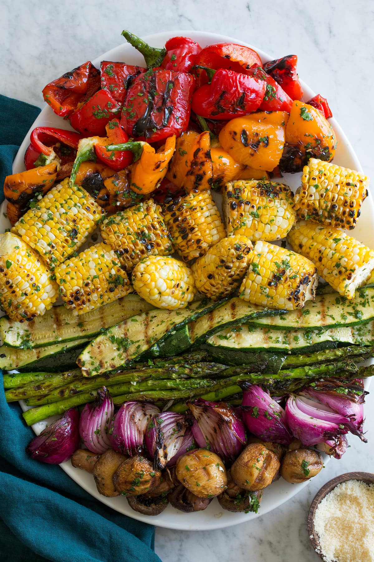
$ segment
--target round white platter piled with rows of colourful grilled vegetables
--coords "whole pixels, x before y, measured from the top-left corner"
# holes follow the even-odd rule
[[[45,86],[4,183],[6,399],[114,509],[222,527],[366,442],[369,179],[297,56],[122,35]]]

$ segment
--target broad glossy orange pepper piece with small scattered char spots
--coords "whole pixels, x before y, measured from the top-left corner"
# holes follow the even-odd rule
[[[219,142],[239,164],[271,171],[282,155],[288,117],[285,111],[236,117],[221,129]]]

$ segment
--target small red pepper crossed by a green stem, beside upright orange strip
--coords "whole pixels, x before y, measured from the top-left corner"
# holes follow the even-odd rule
[[[95,144],[96,156],[107,166],[119,172],[124,170],[133,161],[133,153],[128,151],[108,151],[105,146],[110,144],[123,144],[128,141],[128,135],[122,130],[119,119],[112,119],[105,127],[107,138],[102,139],[100,144]]]

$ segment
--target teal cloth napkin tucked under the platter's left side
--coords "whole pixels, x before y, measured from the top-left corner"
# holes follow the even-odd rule
[[[39,111],[0,95],[1,201],[4,177]],[[34,433],[20,406],[7,404],[1,369],[0,379],[0,560],[160,562],[154,527],[101,504],[59,466],[26,455]]]

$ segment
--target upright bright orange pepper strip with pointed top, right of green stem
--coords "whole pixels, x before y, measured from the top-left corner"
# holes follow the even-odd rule
[[[134,143],[135,144],[135,143]],[[156,152],[147,142],[142,143],[143,151],[140,158],[132,165],[131,189],[145,195],[156,189],[164,179],[168,164],[176,148],[176,135],[168,137],[163,148]]]

